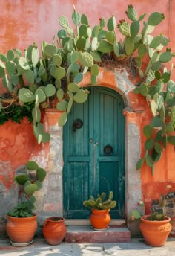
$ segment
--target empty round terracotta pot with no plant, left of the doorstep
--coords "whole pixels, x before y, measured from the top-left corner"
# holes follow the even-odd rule
[[[42,228],[43,234],[47,243],[52,246],[56,246],[62,243],[65,238],[66,226],[65,219],[62,217],[50,217],[44,221]]]

